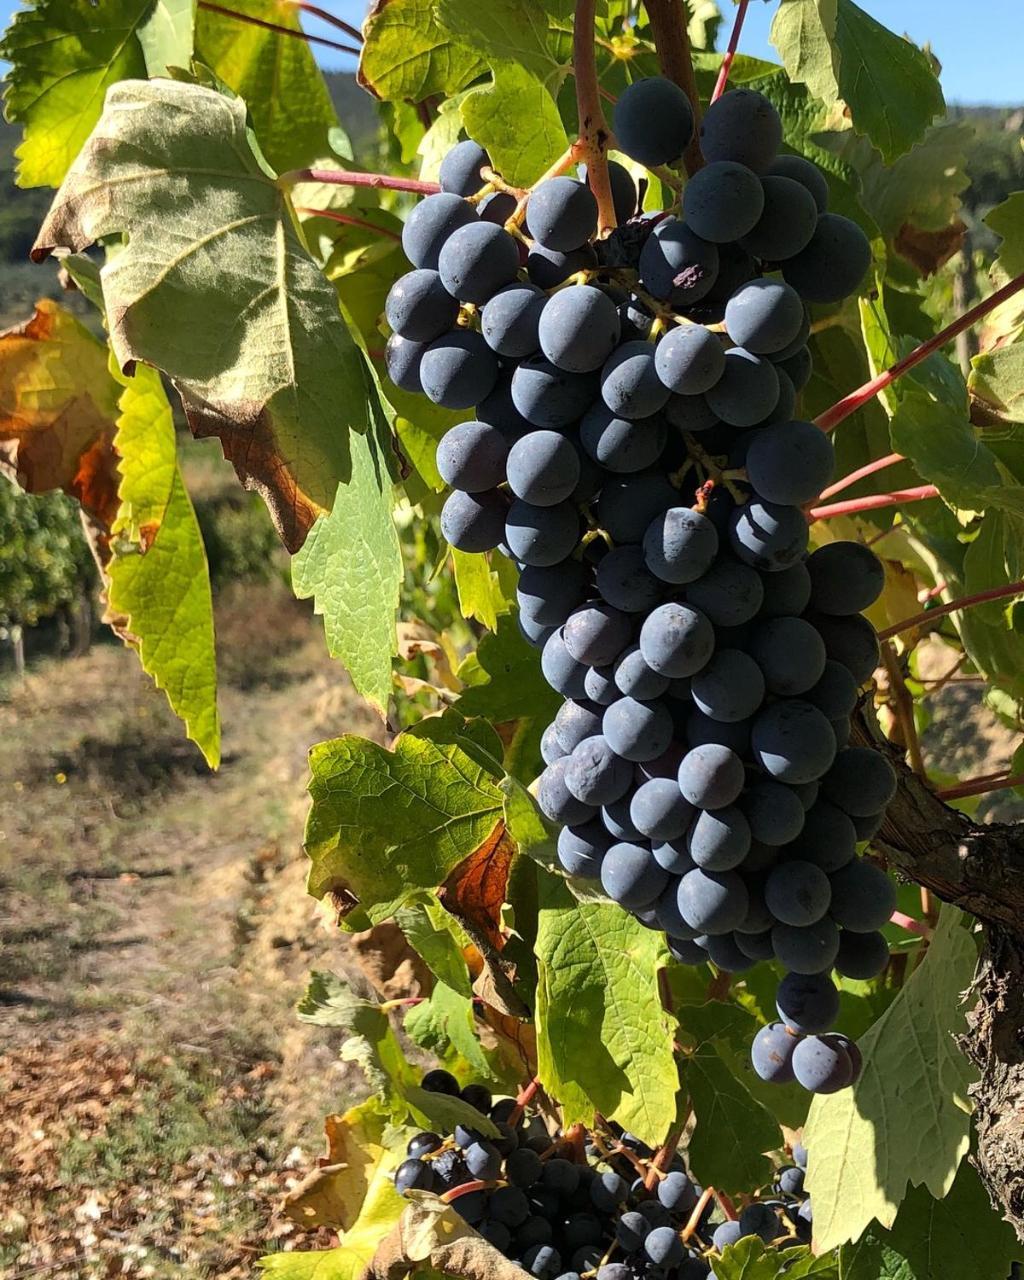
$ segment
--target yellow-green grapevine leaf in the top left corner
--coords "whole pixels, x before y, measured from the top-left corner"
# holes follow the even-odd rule
[[[19,9],[0,41],[12,64],[6,116],[24,125],[22,187],[58,187],[104,109],[104,93],[146,76],[140,28],[151,0],[42,0]]]

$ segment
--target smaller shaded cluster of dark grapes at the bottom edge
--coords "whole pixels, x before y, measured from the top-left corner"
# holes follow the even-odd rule
[[[765,1244],[810,1238],[800,1147],[771,1196],[723,1220],[678,1153],[655,1170],[652,1149],[617,1126],[552,1133],[515,1098],[495,1102],[480,1084],[460,1091],[443,1070],[429,1071],[422,1087],[489,1115],[499,1137],[468,1125],[448,1137],[416,1134],[397,1189],[447,1196],[485,1240],[539,1280],[714,1280],[716,1252],[744,1235]]]

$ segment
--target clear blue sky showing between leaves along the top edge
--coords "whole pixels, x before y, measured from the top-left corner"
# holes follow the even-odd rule
[[[486,0],[483,0],[486,3]],[[1024,104],[1021,54],[1024,52],[1024,0],[858,0],[893,31],[906,32],[919,44],[931,41],[942,61],[942,84],[951,102]],[[358,26],[366,13],[365,0],[321,0],[324,8]],[[719,0],[727,18],[730,0]],[[6,26],[17,8],[0,0],[0,20]],[[768,27],[774,4],[753,0],[740,49],[773,58]],[[321,23],[308,23],[310,32],[339,36]],[[344,38],[343,36],[340,38]],[[320,51],[325,67],[349,69],[353,59],[332,50]],[[3,63],[0,63],[3,68]]]

